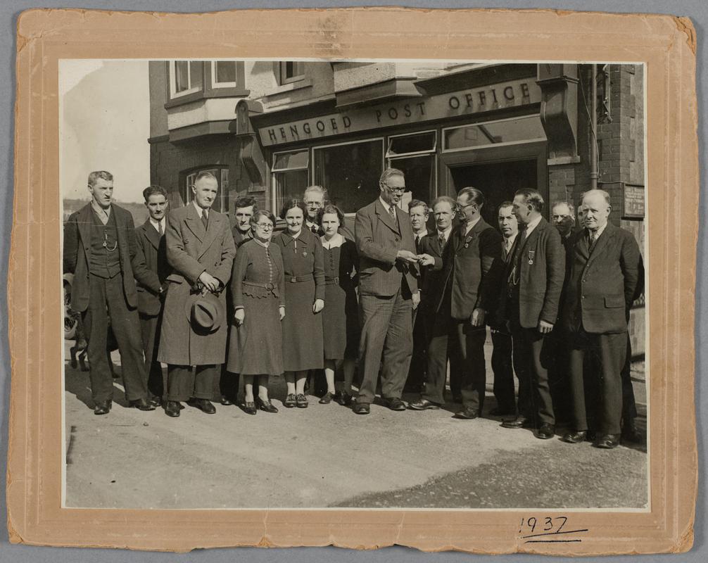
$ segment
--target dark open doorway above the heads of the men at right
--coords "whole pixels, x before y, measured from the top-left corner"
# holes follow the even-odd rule
[[[515,160],[450,167],[455,191],[471,186],[484,193],[486,204],[481,215],[496,227],[496,213],[504,201],[511,201],[516,190],[538,189],[537,160]]]

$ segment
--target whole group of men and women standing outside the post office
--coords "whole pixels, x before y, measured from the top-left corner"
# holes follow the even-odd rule
[[[461,404],[454,416],[472,420],[484,409],[489,326],[491,414],[509,417],[502,426],[552,438],[558,412],[569,443],[615,448],[636,433],[627,324],[643,290],[641,254],[608,221],[603,190],[583,194],[579,229],[570,203],[554,205],[549,224],[542,196],[519,190],[498,207],[496,229],[471,187],[430,206],[412,200],[404,212],[404,173],[387,169],[352,236],[321,186],[283,205],[277,234],[276,217],[253,198],[236,200],[233,222],[212,210],[212,174],[198,174],[191,189],[190,203],[168,212],[166,191],[146,188],[149,217],[134,229],[112,203],[113,176],[91,172],[91,203],[65,224],[64,271],[74,274],[96,414],[112,406],[110,322],[137,409],[161,404],[180,416],[186,402],[211,414],[215,378],[228,405],[241,377],[244,411],[275,413],[269,380],[280,375],[282,405],[305,408],[316,371],[323,404],[368,414],[380,392],[394,411],[440,409],[450,400],[449,362],[452,402]],[[421,395],[406,404],[404,388]]]

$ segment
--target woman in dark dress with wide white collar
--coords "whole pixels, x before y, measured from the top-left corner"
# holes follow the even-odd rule
[[[324,229],[321,237],[324,249],[324,375],[327,392],[320,399],[332,399],[343,405],[352,400],[354,363],[359,348],[359,318],[356,284],[359,256],[353,241],[345,239],[338,229],[344,224],[344,214],[334,205],[326,205],[319,212],[319,224]],[[334,373],[343,367],[344,382],[335,392]],[[339,383],[339,382],[338,382]]]

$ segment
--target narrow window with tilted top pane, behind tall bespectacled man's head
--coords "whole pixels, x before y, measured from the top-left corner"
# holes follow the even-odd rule
[[[430,202],[437,193],[435,131],[389,137],[386,158],[388,166],[401,170],[406,176],[406,202],[411,199]]]

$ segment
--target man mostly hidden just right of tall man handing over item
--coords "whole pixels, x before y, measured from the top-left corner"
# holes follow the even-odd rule
[[[413,227],[413,238],[416,241],[416,254],[421,254],[421,241],[428,234],[428,217],[430,210],[428,204],[421,200],[411,200],[408,205],[408,215],[411,217],[411,227]],[[421,278],[418,285],[421,288],[421,305],[413,309],[413,356],[411,356],[411,367],[408,370],[408,378],[404,387],[405,392],[420,393],[423,390],[423,380],[426,375],[428,363],[428,338],[426,336],[426,318],[423,312],[423,301],[425,300],[425,268],[421,269]]]

